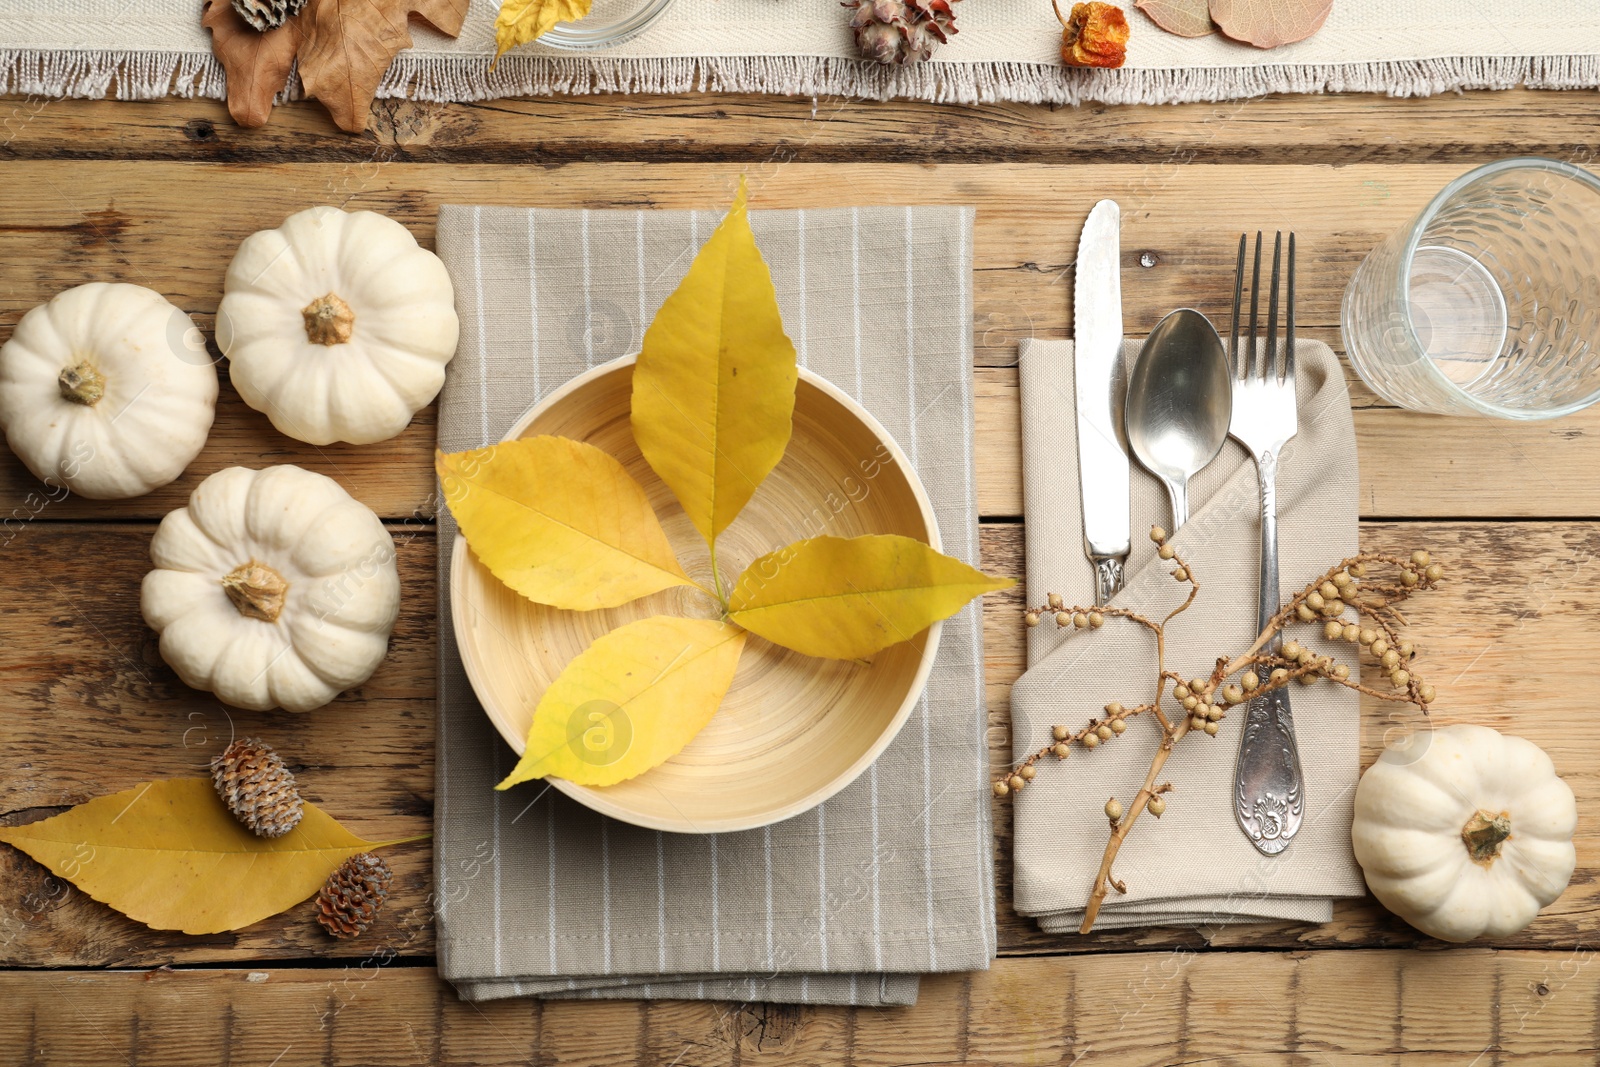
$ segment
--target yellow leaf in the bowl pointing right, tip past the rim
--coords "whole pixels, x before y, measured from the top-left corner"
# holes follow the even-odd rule
[[[811,537],[750,563],[728,597],[728,617],[806,656],[861,659],[1014,584],[915,537]]]

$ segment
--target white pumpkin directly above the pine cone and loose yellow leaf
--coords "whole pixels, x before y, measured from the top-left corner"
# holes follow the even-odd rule
[[[394,539],[333,478],[218,470],[162,520],[150,560],[141,606],[162,659],[235,707],[322,707],[389,649]]]

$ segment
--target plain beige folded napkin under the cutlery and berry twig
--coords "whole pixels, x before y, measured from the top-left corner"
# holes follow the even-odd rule
[[[1123,344],[1131,366],[1141,341]],[[1357,550],[1357,466],[1350,400],[1328,346],[1296,347],[1299,432],[1278,467],[1278,576],[1301,589]],[[1027,509],[1027,598],[1059,592],[1088,603],[1094,579],[1083,555],[1077,440],[1072,432],[1072,344],[1024,341],[1022,480]],[[1146,536],[1171,528],[1166,491],[1133,462],[1133,555],[1115,603],[1163,616],[1186,593]],[[1190,517],[1173,544],[1194,563],[1200,597],[1166,629],[1166,665],[1210,673],[1216,656],[1237,654],[1256,635],[1261,514],[1256,469],[1234,440],[1189,486]],[[1294,640],[1355,665],[1350,646],[1296,625]],[[1110,701],[1142,704],[1154,691],[1155,643],[1136,624],[1107,621],[1074,633],[1043,624],[1029,632],[1029,669],[1011,689],[1014,757],[1048,744],[1056,723],[1078,726]],[[1141,819],[1112,873],[1115,891],[1098,928],[1211,925],[1264,920],[1328,921],[1333,899],[1360,896],[1350,854],[1350,809],[1360,768],[1360,697],[1330,683],[1294,686],[1294,731],[1306,776],[1306,821],[1285,853],[1262,856],[1234,821],[1232,784],[1243,710],[1216,737],[1189,737],[1168,760],[1166,813]],[[1171,699],[1168,696],[1168,699]],[[1181,709],[1179,712],[1181,713]],[[1160,729],[1152,718],[1093,752],[1074,747],[1064,765],[1046,760],[1014,798],[1016,910],[1050,933],[1077,931],[1106,848],[1107,797],[1133,798],[1149,771]]]

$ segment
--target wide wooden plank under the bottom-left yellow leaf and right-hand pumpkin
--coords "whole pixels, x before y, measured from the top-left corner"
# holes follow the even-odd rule
[[[368,837],[427,832],[434,745],[434,536],[394,528],[402,542],[403,613],[389,659],[358,694],[307,715],[248,713],[182,686],[162,664],[138,608],[147,569],[149,526],[38,522],[0,557],[0,750],[14,768],[0,781],[0,817],[30,821],[150,777],[203,774],[206,760],[237,734],[261,734],[285,752],[301,782]],[[1544,745],[1587,809],[1600,805],[1600,721],[1574,678],[1574,664],[1600,657],[1600,530],[1590,523],[1370,523],[1370,549],[1427,545],[1451,581],[1410,611],[1422,651],[1419,672],[1443,694],[1438,721],[1480,721]],[[984,565],[1022,574],[1022,530],[986,523]],[[986,608],[990,755],[1010,760],[1008,697],[1022,672],[1021,592]],[[1107,635],[1109,638],[1109,635]],[[1392,709],[1363,709],[1362,758],[1370,763],[1392,726]],[[1070,777],[1035,787],[1070,789]],[[1152,832],[1160,832],[1154,827]],[[1398,945],[1421,939],[1371,901],[1342,902],[1325,926],[1291,923],[1208,931],[1146,929],[1051,937],[1010,905],[1010,817],[995,809],[998,918],[1005,952],[1106,952],[1171,945],[1333,947]],[[427,957],[432,945],[429,848],[395,849],[398,888],[384,937],[397,952]],[[1600,905],[1600,825],[1579,824],[1573,888],[1506,945],[1576,947]],[[43,869],[0,849],[0,960],[86,966],[205,963],[302,955],[363,955],[334,945],[302,905],[246,931],[184,937],[136,926],[67,893]],[[14,889],[10,889],[14,886]],[[392,925],[389,925],[392,923]],[[387,944],[387,942],[386,942]]]

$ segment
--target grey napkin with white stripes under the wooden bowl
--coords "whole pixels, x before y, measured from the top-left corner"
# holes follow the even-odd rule
[[[731,200],[733,189],[728,189]],[[438,445],[475,448],[574,374],[635,352],[720,213],[445,206],[461,314]],[[800,363],[904,446],[944,550],[978,561],[971,208],[752,211]],[[677,835],[530,782],[467,683],[438,517],[438,966],[467,1000],[661,997],[901,1005],[986,968],[994,865],[976,605],[853,785],[760,830]]]

